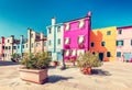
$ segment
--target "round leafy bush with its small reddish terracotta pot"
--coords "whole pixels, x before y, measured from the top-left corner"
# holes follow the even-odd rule
[[[86,52],[85,54],[80,54],[77,58],[77,65],[80,67],[80,71],[85,75],[91,75],[92,67],[101,66],[101,61],[99,60],[99,55],[92,54],[90,52]]]

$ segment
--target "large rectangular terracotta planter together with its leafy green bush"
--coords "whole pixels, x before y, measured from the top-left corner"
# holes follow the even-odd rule
[[[44,83],[47,80],[47,68],[51,56],[47,53],[28,54],[23,56],[20,77],[23,80]]]

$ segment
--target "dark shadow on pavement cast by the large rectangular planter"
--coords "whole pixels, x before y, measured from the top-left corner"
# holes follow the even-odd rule
[[[47,82],[55,83],[57,81],[68,80],[68,79],[73,79],[73,77],[48,76]]]

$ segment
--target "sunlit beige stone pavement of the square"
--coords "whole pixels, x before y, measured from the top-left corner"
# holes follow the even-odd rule
[[[90,76],[80,74],[78,68],[50,68],[48,82],[44,85],[21,80],[19,67],[0,64],[0,90],[132,90],[131,63],[105,63]]]

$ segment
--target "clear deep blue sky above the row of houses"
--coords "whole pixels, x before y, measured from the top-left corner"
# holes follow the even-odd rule
[[[132,0],[0,0],[0,36],[28,35],[28,27],[44,32],[57,23],[92,12],[92,29],[132,25]]]

